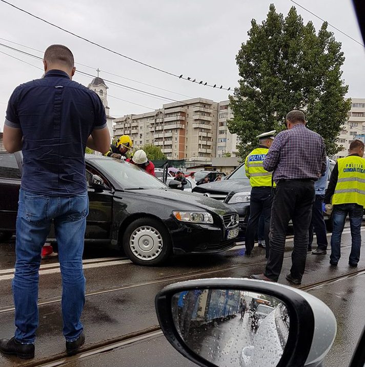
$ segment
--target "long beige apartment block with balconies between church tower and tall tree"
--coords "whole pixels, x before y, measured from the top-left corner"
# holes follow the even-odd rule
[[[135,148],[154,144],[170,159],[211,160],[216,155],[218,103],[205,98],[114,119],[113,134],[130,135]]]

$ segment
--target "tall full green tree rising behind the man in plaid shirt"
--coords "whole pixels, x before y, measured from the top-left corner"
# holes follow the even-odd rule
[[[341,79],[344,55],[341,44],[322,24],[318,33],[292,7],[286,18],[273,4],[267,19],[251,21],[249,39],[236,56],[239,87],[230,96],[234,118],[229,131],[238,134],[244,158],[257,144],[256,136],[286,128],[285,116],[303,110],[307,126],[325,139],[327,154],[334,155],[341,125],[347,121],[351,100]]]

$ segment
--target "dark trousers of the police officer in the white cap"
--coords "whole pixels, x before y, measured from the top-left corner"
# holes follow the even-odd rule
[[[245,246],[246,253],[250,254],[255,245],[255,236],[258,228],[258,222],[262,213],[265,221],[264,237],[266,242],[266,256],[269,257],[269,231],[271,204],[273,201],[272,188],[252,187],[250,199],[250,217],[247,222]]]

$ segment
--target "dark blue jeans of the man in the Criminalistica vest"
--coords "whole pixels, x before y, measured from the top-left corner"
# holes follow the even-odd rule
[[[330,261],[337,264],[341,257],[341,234],[344,222],[349,214],[351,229],[350,264],[357,264],[360,260],[361,223],[363,207],[358,204],[338,204],[333,206],[333,231],[331,236]]]

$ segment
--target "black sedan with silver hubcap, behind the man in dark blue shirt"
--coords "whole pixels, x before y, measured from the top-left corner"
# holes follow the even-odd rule
[[[109,157],[86,155],[89,215],[85,243],[111,244],[139,265],[170,254],[219,252],[234,246],[238,214],[204,196],[174,190],[144,170]],[[0,236],[15,232],[21,158],[0,154]],[[49,234],[54,242],[54,231]]]

